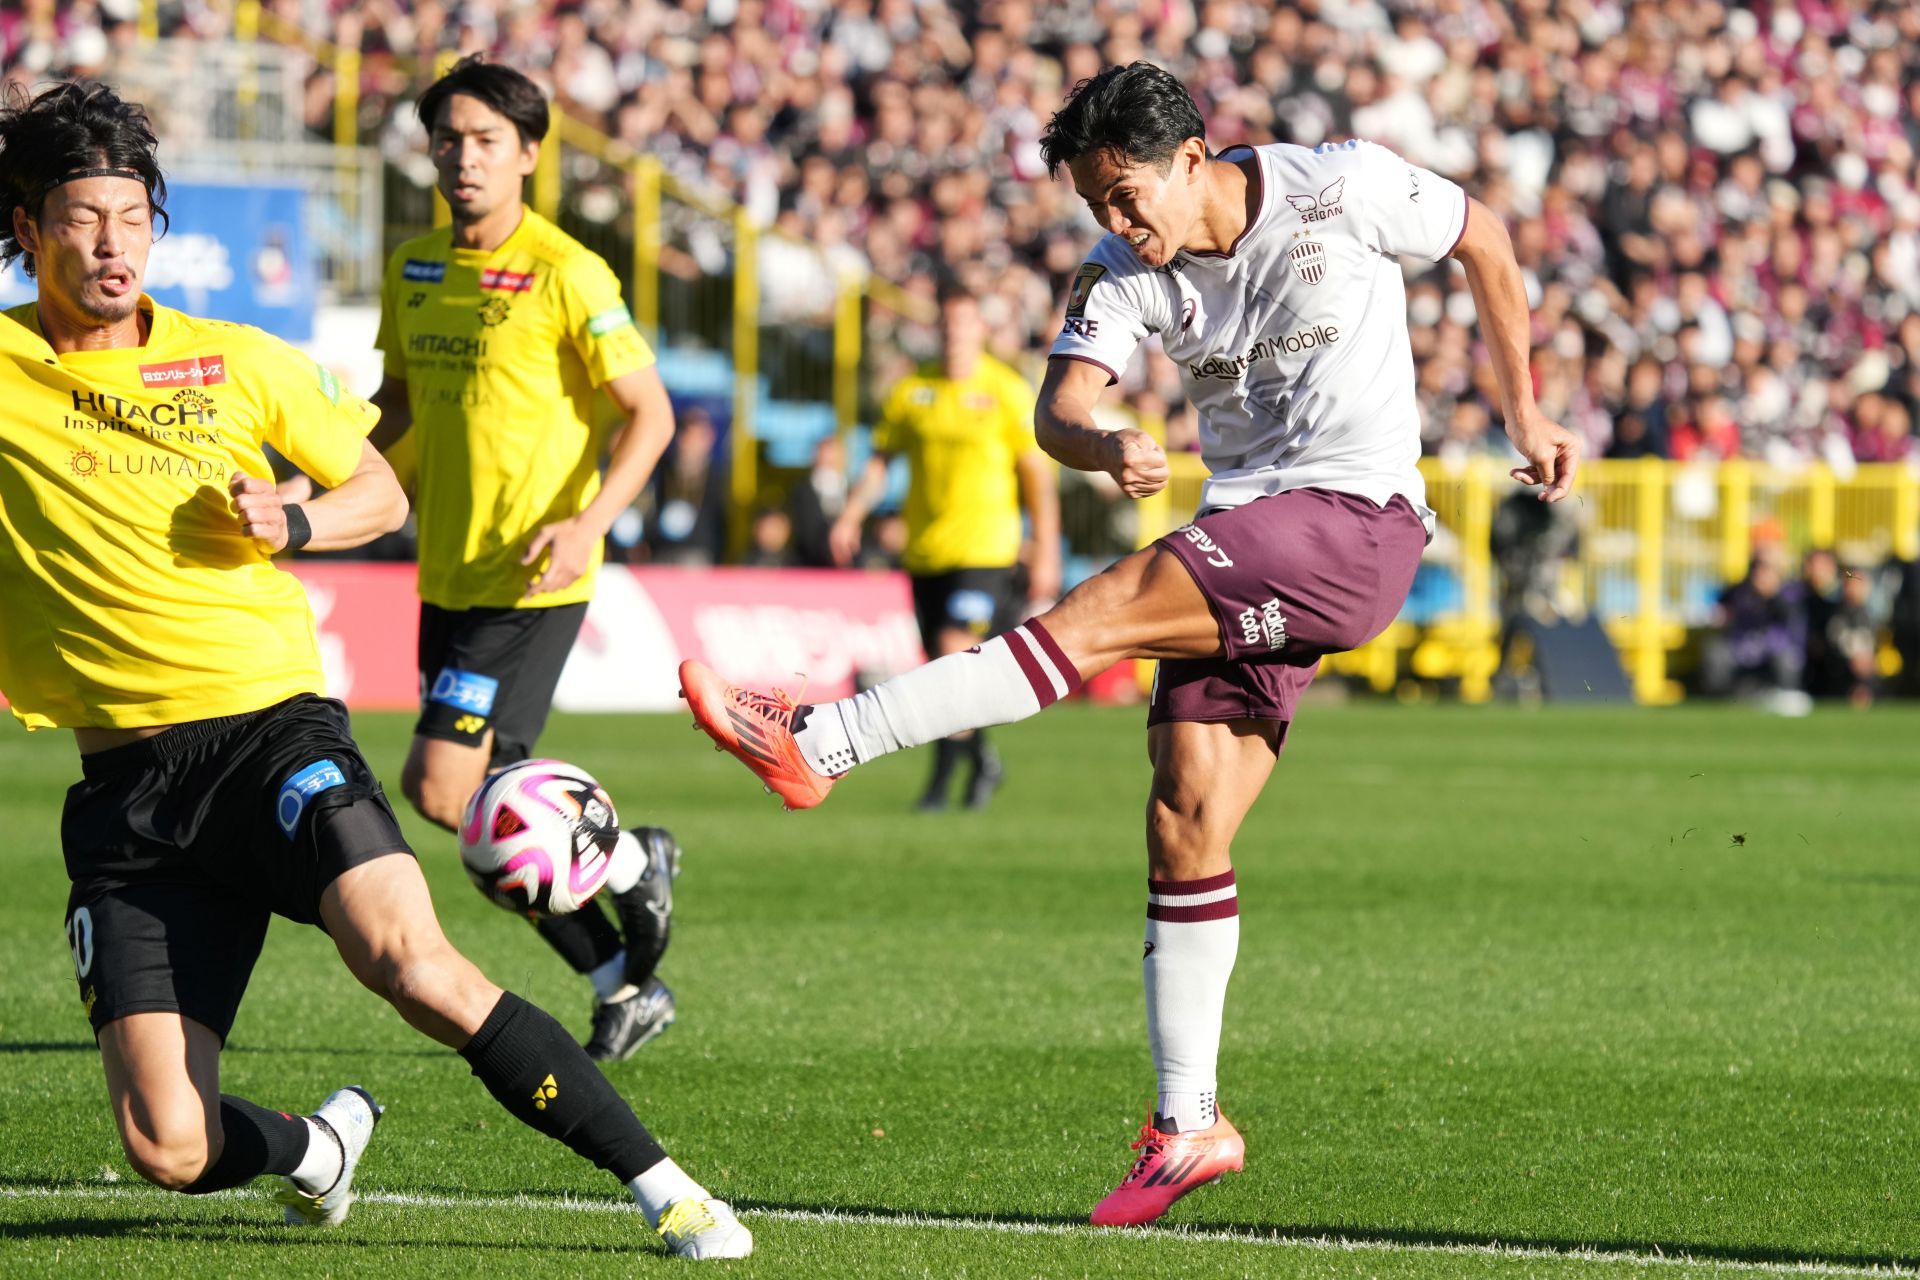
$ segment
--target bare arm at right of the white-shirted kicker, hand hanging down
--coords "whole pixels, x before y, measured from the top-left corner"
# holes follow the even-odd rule
[[[1540,501],[1557,503],[1572,489],[1580,466],[1580,439],[1553,422],[1534,403],[1534,382],[1528,374],[1530,322],[1526,288],[1521,265],[1513,257],[1513,240],[1505,225],[1478,200],[1467,201],[1467,226],[1453,248],[1453,257],[1467,269],[1473,305],[1480,315],[1480,336],[1486,340],[1494,376],[1500,380],[1500,409],[1507,418],[1507,438],[1526,459],[1513,468],[1523,484],[1542,486]]]

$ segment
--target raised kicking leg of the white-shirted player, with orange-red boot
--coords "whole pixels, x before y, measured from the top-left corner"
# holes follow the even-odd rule
[[[1025,720],[1121,658],[1204,658],[1219,649],[1206,597],[1179,558],[1154,545],[1039,618],[839,702],[739,689],[695,660],[680,664],[680,693],[697,727],[801,810],[826,800],[856,764]]]

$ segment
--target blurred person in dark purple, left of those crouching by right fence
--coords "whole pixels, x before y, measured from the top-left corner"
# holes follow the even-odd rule
[[[1747,576],[1720,593],[1718,635],[1701,656],[1705,693],[1751,699],[1780,714],[1805,714],[1807,603],[1788,581],[1786,553],[1761,543]]]

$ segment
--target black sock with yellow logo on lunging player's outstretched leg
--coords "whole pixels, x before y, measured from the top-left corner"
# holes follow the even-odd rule
[[[588,1052],[511,990],[501,992],[461,1057],[516,1121],[559,1138],[622,1182],[666,1159]]]

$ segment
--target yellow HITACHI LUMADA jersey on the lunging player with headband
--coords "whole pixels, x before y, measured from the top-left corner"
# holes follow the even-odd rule
[[[67,355],[35,303],[0,313],[0,691],[29,729],[324,691],[307,595],[227,484],[271,443],[336,486],[380,415],[257,328],[140,307],[146,345]]]

